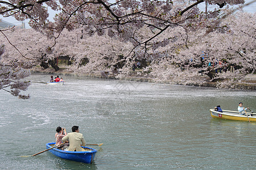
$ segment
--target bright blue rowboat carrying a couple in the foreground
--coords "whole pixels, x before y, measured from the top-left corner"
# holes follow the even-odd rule
[[[51,148],[54,147],[55,142],[52,143],[47,143],[46,148]],[[86,163],[86,164],[92,164],[93,159],[96,155],[97,150],[89,147],[82,147],[81,152],[74,152],[74,151],[64,151],[64,150],[59,150],[57,148],[53,148],[49,150],[53,155],[58,156],[63,159],[68,159],[68,160],[74,160],[76,162],[81,162],[81,163]]]

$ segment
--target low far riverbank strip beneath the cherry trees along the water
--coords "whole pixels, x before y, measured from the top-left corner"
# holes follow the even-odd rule
[[[135,72],[138,70],[135,70]],[[35,67],[31,70],[31,73],[43,73],[43,74],[53,74],[53,75],[75,75],[75,76],[85,76],[89,78],[104,78],[104,79],[120,79],[120,80],[129,80],[136,82],[149,82],[149,83],[159,83],[156,79],[151,78],[150,76],[137,76],[137,74],[132,74],[130,76],[123,76],[122,78],[116,78],[113,73],[102,72],[101,74],[82,74],[78,75],[76,73],[72,73],[71,71],[67,71],[65,67],[60,67],[60,70],[55,71],[53,68],[43,69],[42,67]],[[174,82],[172,80],[166,80],[161,83],[167,84],[176,84],[179,85],[181,83]],[[199,86],[197,84],[188,84],[188,86]],[[216,88],[216,82],[208,82],[201,85],[201,87],[213,87]],[[234,89],[239,90],[256,90],[256,74],[250,74],[243,77],[240,82],[238,82]]]

